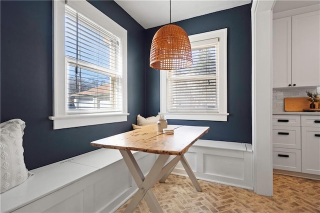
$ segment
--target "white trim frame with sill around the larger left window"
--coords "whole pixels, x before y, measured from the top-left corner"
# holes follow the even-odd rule
[[[53,1],[53,129],[127,120],[127,31],[86,0],[67,1],[92,21],[115,33],[122,40],[122,113],[66,113],[66,71],[64,58],[64,0]]]

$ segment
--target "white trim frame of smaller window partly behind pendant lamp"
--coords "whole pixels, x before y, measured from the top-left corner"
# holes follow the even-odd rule
[[[219,38],[219,62],[218,62],[218,82],[219,82],[219,101],[218,113],[176,113],[167,112],[166,94],[167,94],[167,76],[166,70],[160,70],[160,112],[164,114],[167,119],[180,119],[180,120],[215,120],[227,121],[227,92],[226,92],[226,36],[227,28],[218,29],[209,32],[189,35],[191,42],[197,42],[205,39]]]

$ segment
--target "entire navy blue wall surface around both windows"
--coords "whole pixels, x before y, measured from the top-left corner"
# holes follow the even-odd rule
[[[114,1],[89,1],[128,31],[127,122],[52,129],[52,2],[1,1],[0,121],[21,118],[26,167],[33,169],[94,148],[89,142],[131,129],[136,114],[159,111],[159,72],[148,66],[151,39],[157,28],[143,29]],[[169,120],[208,125],[202,138],[251,142],[250,5],[176,23],[188,34],[228,28],[227,122]]]

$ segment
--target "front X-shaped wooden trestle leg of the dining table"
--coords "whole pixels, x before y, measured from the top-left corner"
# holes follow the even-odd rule
[[[133,195],[133,198],[127,205],[125,212],[132,212],[143,197],[152,212],[162,212],[162,209],[151,188],[154,186],[157,180],[161,178],[161,173],[166,172],[167,169],[170,168],[164,166],[165,162],[169,158],[169,155],[160,154],[149,173],[146,175],[146,177],[144,177],[131,151],[120,150],[120,153],[122,154],[123,159],[133,176],[133,179],[139,187],[138,191]]]

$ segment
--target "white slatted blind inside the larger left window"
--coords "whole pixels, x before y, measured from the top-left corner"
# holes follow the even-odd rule
[[[121,39],[65,5],[66,113],[122,111]]]

